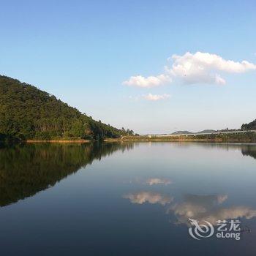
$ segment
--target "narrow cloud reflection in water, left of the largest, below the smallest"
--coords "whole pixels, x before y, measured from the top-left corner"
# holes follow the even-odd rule
[[[124,198],[127,198],[130,200],[131,203],[159,203],[162,206],[165,206],[165,204],[170,203],[173,200],[173,197],[162,195],[157,192],[135,192],[130,193],[127,195],[124,195]]]

